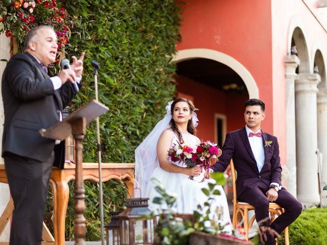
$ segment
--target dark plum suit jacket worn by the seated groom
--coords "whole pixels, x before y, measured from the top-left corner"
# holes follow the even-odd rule
[[[265,146],[265,142],[269,140],[272,143],[270,146]],[[272,182],[278,183],[279,185],[282,184],[282,167],[277,138],[262,132],[262,143],[265,152],[265,163],[260,173],[245,127],[226,135],[219,162],[211,167],[214,171],[223,172],[226,170],[230,159],[233,159],[235,169],[237,170],[236,188],[238,197],[242,194],[246,186],[253,185],[258,181],[263,181],[267,185],[267,188]]]

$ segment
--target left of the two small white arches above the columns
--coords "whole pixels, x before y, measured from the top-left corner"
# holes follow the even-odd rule
[[[312,73],[313,67],[311,65],[311,59],[308,52],[306,32],[304,24],[300,16],[294,15],[289,24],[287,38],[287,52],[291,53],[292,38],[295,41],[298,58],[300,59],[299,72],[300,73]]]

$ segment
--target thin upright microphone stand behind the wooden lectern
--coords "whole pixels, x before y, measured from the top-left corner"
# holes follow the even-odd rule
[[[91,62],[94,74],[94,83],[96,89],[96,101],[98,102],[98,69],[100,68],[99,63],[95,60]],[[103,214],[103,191],[102,191],[102,167],[101,167],[101,142],[100,142],[100,122],[99,117],[97,117],[97,136],[98,136],[98,163],[99,163],[99,185],[100,185],[100,222],[101,222],[101,244],[105,245],[104,243],[104,214]]]

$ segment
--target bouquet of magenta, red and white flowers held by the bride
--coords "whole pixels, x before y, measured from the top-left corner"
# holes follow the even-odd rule
[[[186,167],[195,167],[199,165],[201,172],[203,169],[207,170],[212,165],[210,158],[213,155],[219,157],[221,155],[221,150],[216,143],[209,140],[201,141],[195,148],[178,143],[173,145],[168,151],[168,156],[171,157],[173,162],[183,162]],[[203,181],[203,177],[201,177],[201,181]],[[189,179],[194,180],[194,177],[190,176]]]

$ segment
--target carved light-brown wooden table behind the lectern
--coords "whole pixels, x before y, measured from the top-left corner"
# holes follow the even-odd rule
[[[102,163],[102,181],[122,180],[128,189],[128,197],[133,197],[134,188],[134,163]],[[54,243],[55,245],[65,244],[65,217],[69,198],[68,182],[75,179],[75,164],[65,163],[64,169],[53,168],[50,178],[54,197]],[[99,182],[98,163],[83,163],[83,180],[91,180]],[[0,165],[0,182],[8,183],[5,165]],[[8,204],[8,211],[13,211],[13,205]],[[10,214],[11,214],[10,213]],[[2,217],[5,215],[3,213]],[[3,217],[0,220],[7,220]],[[7,224],[7,223],[6,223]],[[4,224],[4,226],[6,226]],[[0,221],[0,235],[2,230],[2,222]],[[46,227],[45,227],[46,228]],[[45,229],[44,228],[44,229]],[[43,229],[44,238],[47,234]],[[44,240],[44,239],[43,239]],[[52,242],[53,243],[53,242]],[[0,242],[0,245],[5,244]],[[8,243],[7,243],[8,244]],[[46,242],[46,244],[50,244]]]

